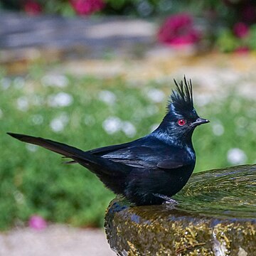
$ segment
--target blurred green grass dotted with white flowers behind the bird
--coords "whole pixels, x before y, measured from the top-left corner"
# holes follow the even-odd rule
[[[99,79],[66,75],[68,85],[54,87],[43,85],[45,70],[35,65],[26,78],[0,77],[0,229],[26,222],[35,214],[54,223],[101,226],[105,208],[114,195],[94,174],[79,165],[62,164],[63,159],[57,154],[29,147],[5,133],[31,134],[85,150],[127,142],[148,134],[154,124],[161,122],[173,85],[153,81],[134,86],[119,77]],[[152,102],[146,96],[146,92],[154,88],[165,93],[163,102]],[[115,95],[114,104],[99,99],[102,90]],[[49,95],[58,92],[71,95],[73,103],[50,107]],[[17,108],[17,102],[23,110]],[[255,162],[256,111],[253,104],[238,95],[230,95],[196,107],[198,114],[211,121],[198,127],[193,135],[196,172],[230,166],[227,152],[232,148],[244,151],[246,163]],[[65,122],[60,132],[50,127],[56,117],[62,117]],[[122,131],[107,134],[102,123],[108,117],[131,122],[136,134],[133,137],[127,137]],[[220,136],[213,133],[216,125],[224,129]]]

